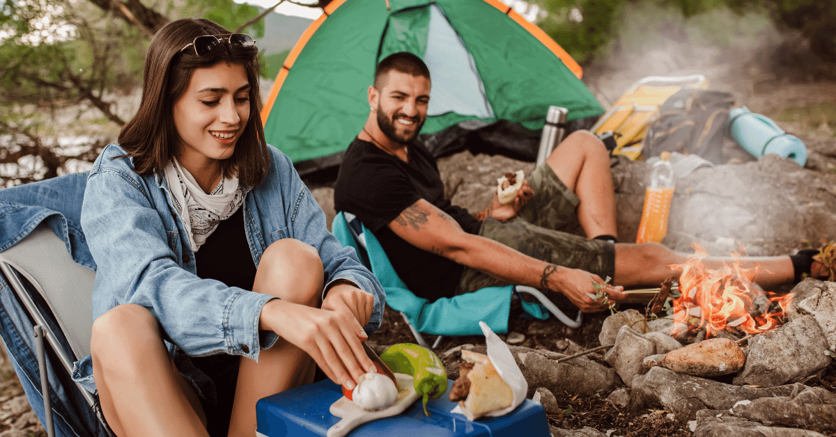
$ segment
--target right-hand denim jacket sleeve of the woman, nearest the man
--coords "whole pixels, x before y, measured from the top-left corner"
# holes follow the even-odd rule
[[[371,318],[364,327],[366,333],[374,333],[380,328],[383,319],[386,299],[383,287],[380,286],[377,277],[359,262],[354,248],[343,247],[337,237],[328,231],[325,213],[293,169],[290,159],[273,147],[269,149],[273,153],[271,165],[276,169],[271,171],[270,175],[282,180],[270,180],[268,177],[262,185],[282,187],[282,197],[287,200],[283,208],[290,224],[288,236],[314,246],[319,252],[325,271],[326,289],[331,282],[347,279],[375,297]]]

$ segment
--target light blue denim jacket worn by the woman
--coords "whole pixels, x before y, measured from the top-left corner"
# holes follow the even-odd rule
[[[341,246],[327,230],[324,212],[288,157],[273,147],[268,150],[268,175],[243,204],[252,262],[258,265],[264,250],[281,238],[314,246],[326,285],[348,279],[374,295],[374,310],[364,327],[374,332],[385,304],[380,282],[354,249]],[[136,303],[159,320],[171,353],[176,345],[192,356],[229,353],[257,360],[259,351],[278,339],[258,330],[264,303],[275,297],[197,277],[194,252],[171,208],[165,178],[159,173],[137,175],[132,159],[114,159],[119,155],[125,150],[108,145],[95,160],[81,208],[81,227],[96,267],[94,318],[116,305]],[[89,356],[75,364],[73,376],[94,390]]]

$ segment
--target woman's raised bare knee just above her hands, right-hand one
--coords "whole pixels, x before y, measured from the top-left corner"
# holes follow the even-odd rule
[[[253,289],[296,303],[308,304],[324,287],[324,267],[319,252],[293,238],[268,246],[258,264]]]

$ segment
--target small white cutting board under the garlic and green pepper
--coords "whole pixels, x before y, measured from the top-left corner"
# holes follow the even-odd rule
[[[398,381],[398,399],[395,400],[395,404],[391,404],[385,409],[362,409],[345,396],[331,404],[329,411],[339,417],[340,420],[328,429],[327,437],[343,437],[345,434],[349,434],[352,429],[371,420],[401,414],[416,400],[421,399],[421,394],[415,393],[415,380],[411,375],[395,373],[395,379]]]

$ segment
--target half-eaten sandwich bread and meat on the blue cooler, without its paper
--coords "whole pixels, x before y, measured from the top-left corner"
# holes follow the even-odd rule
[[[514,394],[482,353],[461,351],[465,362],[459,366],[459,378],[450,390],[451,402],[458,402],[465,417],[475,420],[485,414],[511,406]]]

